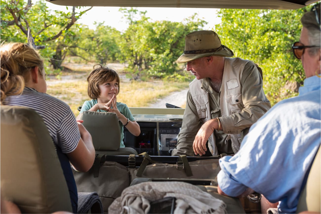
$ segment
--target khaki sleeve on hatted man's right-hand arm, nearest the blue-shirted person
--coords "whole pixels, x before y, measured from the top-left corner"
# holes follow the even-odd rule
[[[241,77],[243,109],[239,113],[220,117],[225,133],[238,134],[243,129],[250,127],[266,111],[271,108],[271,103],[266,98],[263,90],[263,80],[256,65],[247,63]]]

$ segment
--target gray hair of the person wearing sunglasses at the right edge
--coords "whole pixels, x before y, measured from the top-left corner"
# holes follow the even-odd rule
[[[310,43],[309,45],[320,46],[320,25],[317,23],[315,12],[309,11],[305,13],[301,18],[301,23],[303,27],[308,30],[308,40]],[[308,49],[308,53],[310,56],[317,54],[318,51],[320,51],[320,48],[317,47]]]

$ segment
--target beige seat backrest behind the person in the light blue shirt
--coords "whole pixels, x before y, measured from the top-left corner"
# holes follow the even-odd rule
[[[321,154],[320,147],[311,166],[307,183],[301,192],[296,213],[321,212]]]

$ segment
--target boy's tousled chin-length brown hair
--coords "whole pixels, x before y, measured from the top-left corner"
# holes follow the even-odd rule
[[[87,77],[88,81],[88,96],[91,99],[97,99],[100,97],[99,85],[108,81],[117,80],[118,93],[120,90],[120,79],[116,70],[111,67],[102,66],[100,64],[94,65],[94,69]]]

